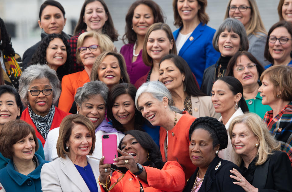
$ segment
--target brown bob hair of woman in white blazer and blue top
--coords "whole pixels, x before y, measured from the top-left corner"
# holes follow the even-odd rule
[[[88,155],[92,155],[95,148],[95,127],[92,122],[85,116],[80,114],[71,114],[64,117],[60,124],[59,137],[57,140],[57,154],[58,157],[62,157],[65,159],[65,155],[70,155],[68,149],[66,149],[66,142],[69,141],[70,135],[72,133],[72,129],[77,125],[84,125],[88,128],[91,138],[92,138],[92,146],[88,153]]]

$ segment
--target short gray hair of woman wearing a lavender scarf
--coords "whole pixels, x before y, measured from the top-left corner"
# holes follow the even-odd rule
[[[105,104],[107,104],[107,95],[109,93],[109,88],[102,81],[91,81],[85,83],[82,87],[77,89],[76,95],[74,97],[75,103],[81,105],[83,102],[88,100],[89,96],[100,95],[103,98]]]

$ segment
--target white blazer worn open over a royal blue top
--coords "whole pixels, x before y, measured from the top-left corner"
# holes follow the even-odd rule
[[[58,159],[43,165],[40,172],[42,191],[90,192],[71,159],[69,159],[67,155],[65,157],[65,159],[59,157]],[[92,169],[98,191],[101,191],[98,183],[99,161],[87,157],[87,162]]]

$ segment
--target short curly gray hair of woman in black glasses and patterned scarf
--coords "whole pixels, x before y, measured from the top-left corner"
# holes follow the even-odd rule
[[[53,103],[55,103],[60,96],[60,80],[57,77],[57,72],[51,69],[48,65],[30,65],[21,74],[19,78],[18,92],[23,104],[28,105],[28,89],[31,82],[36,79],[47,78],[53,88]]]

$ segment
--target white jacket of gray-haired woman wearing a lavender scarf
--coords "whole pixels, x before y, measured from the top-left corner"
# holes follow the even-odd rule
[[[45,145],[43,146],[43,152],[45,154],[46,161],[54,161],[55,159],[58,158],[56,147],[57,147],[57,140],[59,137],[59,130],[60,130],[60,127],[54,128],[47,135],[47,140],[45,142]],[[88,155],[89,158],[94,159],[94,160],[100,160],[103,157],[101,136],[104,134],[116,134],[117,146],[119,145],[120,140],[125,136],[124,134],[118,133],[118,132],[106,133],[101,130],[97,131],[95,133],[95,137],[96,137],[95,148],[92,155]]]

